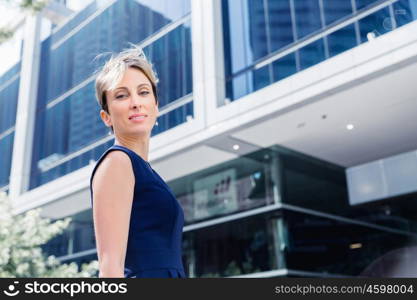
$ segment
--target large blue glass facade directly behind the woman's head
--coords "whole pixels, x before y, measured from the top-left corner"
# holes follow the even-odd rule
[[[161,113],[152,135],[194,116],[190,1],[108,1],[107,7],[98,2],[42,42],[30,188],[86,166],[111,145],[99,117],[93,76],[109,55],[95,59],[97,55],[119,52],[129,42],[140,44],[175,22],[176,26],[144,47],[160,82]],[[190,100],[163,112],[168,104],[184,97]]]

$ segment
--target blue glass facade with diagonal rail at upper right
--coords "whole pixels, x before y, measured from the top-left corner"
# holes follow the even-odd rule
[[[383,7],[375,11],[377,5]],[[369,33],[378,37],[417,17],[415,1],[409,0],[223,0],[222,10],[230,101],[365,43]],[[339,28],[341,22],[348,25]],[[291,54],[279,55],[289,49]],[[258,66],[271,57],[272,63]]]

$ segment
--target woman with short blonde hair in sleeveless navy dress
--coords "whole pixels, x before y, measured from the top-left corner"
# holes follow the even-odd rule
[[[100,117],[115,136],[90,180],[99,277],[185,277],[184,213],[148,162],[156,84],[136,47],[110,58],[97,75]]]

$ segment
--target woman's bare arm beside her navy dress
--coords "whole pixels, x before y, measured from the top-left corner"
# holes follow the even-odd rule
[[[99,277],[124,277],[135,177],[130,158],[111,151],[94,174],[93,219]]]

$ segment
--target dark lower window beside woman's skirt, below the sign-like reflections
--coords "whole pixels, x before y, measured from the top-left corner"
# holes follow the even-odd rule
[[[189,277],[227,277],[282,268],[279,225],[254,216],[183,234],[183,263]]]

